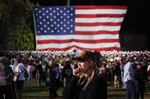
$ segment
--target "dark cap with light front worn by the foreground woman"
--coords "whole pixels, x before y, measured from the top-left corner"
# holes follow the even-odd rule
[[[94,53],[91,51],[81,50],[79,51],[79,56],[76,58],[77,61],[87,61],[87,60],[93,60]]]

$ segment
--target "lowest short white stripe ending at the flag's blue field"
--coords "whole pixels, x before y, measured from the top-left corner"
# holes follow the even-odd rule
[[[86,27],[86,26],[76,26],[75,31],[119,31],[120,26],[94,26],[94,27]]]

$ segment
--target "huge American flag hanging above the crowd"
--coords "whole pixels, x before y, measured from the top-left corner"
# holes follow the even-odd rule
[[[120,50],[127,6],[50,6],[33,10],[36,49]]]

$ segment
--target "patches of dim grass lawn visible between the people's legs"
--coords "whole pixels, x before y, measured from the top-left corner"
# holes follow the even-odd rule
[[[126,91],[122,88],[108,86],[108,99],[125,99],[125,93]],[[56,99],[62,99],[61,89],[59,89],[58,95],[59,97]],[[48,87],[39,86],[35,80],[25,82],[23,99],[49,99],[48,96]],[[145,99],[150,99],[150,82],[146,85]]]

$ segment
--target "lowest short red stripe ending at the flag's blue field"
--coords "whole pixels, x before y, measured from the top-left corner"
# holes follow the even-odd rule
[[[76,31],[76,34],[80,34],[80,35],[119,34],[119,31],[95,31],[95,32]]]

